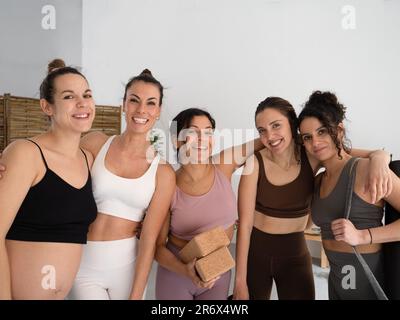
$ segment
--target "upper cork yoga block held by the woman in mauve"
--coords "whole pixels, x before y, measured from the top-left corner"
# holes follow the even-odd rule
[[[195,236],[183,247],[179,256],[184,263],[188,263],[194,258],[205,257],[219,248],[228,246],[229,243],[225,230],[217,227]]]

